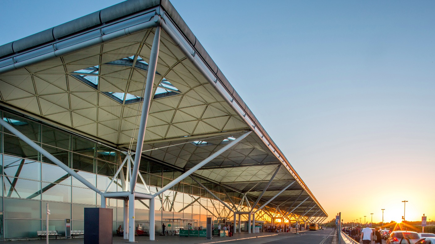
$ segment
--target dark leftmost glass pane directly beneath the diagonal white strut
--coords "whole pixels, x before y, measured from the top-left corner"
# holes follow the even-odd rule
[[[28,158],[37,161],[38,152],[26,142],[13,135],[4,134],[3,152],[21,158]]]

